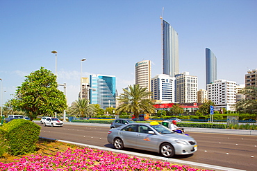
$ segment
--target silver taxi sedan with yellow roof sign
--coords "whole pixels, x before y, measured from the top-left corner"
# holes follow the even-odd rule
[[[197,141],[194,138],[174,133],[157,122],[130,123],[110,129],[107,139],[118,150],[130,147],[158,152],[165,157],[192,154],[197,151]]]

